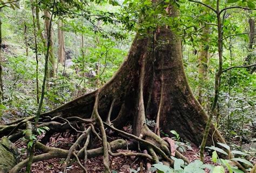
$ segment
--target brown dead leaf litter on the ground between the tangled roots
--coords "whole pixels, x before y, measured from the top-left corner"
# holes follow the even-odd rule
[[[38,136],[38,139],[43,138],[43,135]],[[57,133],[51,136],[50,141],[46,143],[46,146],[56,147],[62,149],[69,149],[73,142],[76,140],[77,135],[66,133]],[[110,140],[116,140],[117,138],[111,138]],[[101,147],[101,143],[98,142],[97,147]],[[18,140],[15,142],[16,147],[21,154],[21,160],[24,160],[26,157],[26,142]],[[190,162],[194,160],[199,160],[199,148],[196,146],[184,146],[183,145],[183,155],[188,158]],[[116,152],[134,152],[132,150],[122,150],[119,149]],[[36,155],[42,154],[41,151],[36,150]],[[110,156],[110,169],[113,172],[131,172],[131,169],[138,170],[140,164],[143,165],[143,168],[146,168],[147,161],[144,158],[139,158],[136,156]],[[62,172],[63,163],[65,158],[52,158],[50,160],[39,161],[32,164],[31,172]],[[83,161],[81,162],[83,164]],[[210,153],[205,152],[205,163],[214,164],[211,161]],[[88,172],[103,172],[103,156],[88,158],[86,162],[86,167]],[[67,167],[68,172],[83,172],[77,162],[74,162]],[[22,169],[22,172],[25,171],[25,168]],[[206,170],[206,172],[208,172]],[[210,172],[210,171],[209,171]]]

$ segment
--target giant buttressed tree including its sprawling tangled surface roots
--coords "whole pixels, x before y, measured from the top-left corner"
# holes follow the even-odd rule
[[[165,11],[172,18],[177,15],[173,5],[167,5]],[[66,165],[72,155],[86,160],[87,156],[103,154],[105,169],[110,171],[109,150],[126,147],[126,142],[116,140],[108,143],[108,133],[105,131],[107,127],[139,142],[140,148],[149,153],[139,156],[145,156],[152,162],[163,159],[172,163],[169,157],[170,146],[160,138],[160,132],[170,134],[171,130],[175,130],[181,138],[199,146],[207,119],[207,114],[187,82],[180,39],[171,26],[163,24],[146,33],[136,34],[122,66],[101,88],[41,115],[38,127],[48,126],[51,129],[43,141],[47,141],[52,133],[66,128],[73,129],[80,135],[70,150],[50,148],[36,142],[36,148],[45,153],[34,156],[33,162],[66,157]],[[148,126],[148,122],[152,120],[156,122],[154,127]],[[21,132],[14,133],[17,125],[23,129],[30,128],[28,124],[31,121],[33,117],[10,123],[8,127],[3,126],[0,136],[9,134],[9,139],[15,141],[22,136]],[[132,134],[122,131],[122,127],[129,123]],[[101,138],[95,128],[99,129]],[[85,133],[80,133],[82,131]],[[103,148],[87,150],[92,135],[98,136]],[[213,135],[215,142],[225,143],[213,125],[208,135]],[[86,139],[84,147],[73,153],[83,139]],[[210,145],[212,142],[212,138],[208,138],[207,143]],[[90,148],[93,147],[95,146]],[[182,157],[178,152],[176,155]],[[27,162],[28,159],[17,164],[11,172],[18,171]]]

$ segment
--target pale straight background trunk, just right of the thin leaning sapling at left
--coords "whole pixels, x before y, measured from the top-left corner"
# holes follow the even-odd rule
[[[62,21],[58,21],[58,62],[62,65],[64,65],[65,60],[65,49],[64,49],[64,34],[62,31],[63,24]]]

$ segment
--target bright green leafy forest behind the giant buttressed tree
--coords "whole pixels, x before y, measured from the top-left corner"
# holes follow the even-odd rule
[[[215,1],[200,2],[215,5]],[[51,19],[52,3],[57,3],[57,12]],[[181,38],[187,80],[201,106],[210,112],[219,68],[218,19],[200,3],[186,0],[174,3],[180,13],[172,25]],[[221,18],[224,71],[213,116],[213,124],[230,147],[254,154],[255,3],[221,1],[222,8],[231,5],[241,8],[226,10]],[[37,114],[48,41],[49,70],[42,112],[102,86],[122,64],[135,33],[165,22],[161,16],[150,18],[157,12],[149,0],[75,3],[10,0],[0,1],[0,10],[2,124]],[[139,23],[140,13],[149,14],[145,22]],[[175,131],[173,134],[176,135]]]

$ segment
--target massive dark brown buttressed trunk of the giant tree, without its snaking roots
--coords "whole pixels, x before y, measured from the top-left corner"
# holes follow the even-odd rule
[[[143,38],[137,34],[122,67],[99,89],[98,112],[106,120],[112,104],[111,121],[114,126],[120,128],[130,122],[133,124],[133,134],[137,136],[144,133],[146,118],[156,120],[160,112],[160,124],[157,125],[160,131],[171,135],[170,131],[174,129],[181,138],[199,146],[207,115],[188,85],[181,59],[180,40],[168,28],[159,28],[157,31],[156,39],[152,39],[152,33]],[[142,86],[139,86],[140,82]],[[43,116],[61,114],[63,117],[89,118],[96,93],[98,90]],[[140,93],[143,93],[143,97]],[[160,99],[163,104],[159,107]],[[115,100],[114,103],[112,100]],[[214,130],[211,126],[209,137]],[[224,142],[218,131],[214,133],[214,140]],[[212,143],[210,138],[207,143]]]

